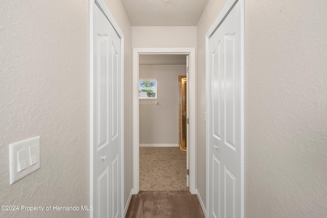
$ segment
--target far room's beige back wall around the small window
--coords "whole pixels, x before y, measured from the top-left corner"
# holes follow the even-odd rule
[[[139,65],[140,80],[157,79],[157,100],[139,100],[140,144],[178,144],[179,75],[186,65]]]

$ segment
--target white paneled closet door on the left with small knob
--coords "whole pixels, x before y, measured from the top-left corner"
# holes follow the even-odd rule
[[[121,41],[108,18],[94,5],[93,144],[94,216],[121,214]]]

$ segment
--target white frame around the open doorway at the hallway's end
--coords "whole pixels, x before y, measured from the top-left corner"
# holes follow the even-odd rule
[[[133,49],[133,193],[139,191],[139,109],[138,109],[138,56],[139,55],[190,55],[190,192],[196,193],[196,69],[195,48],[134,48]]]

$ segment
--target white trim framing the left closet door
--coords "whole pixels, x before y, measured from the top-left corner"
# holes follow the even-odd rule
[[[120,29],[118,22],[114,19],[113,15],[109,11],[107,5],[103,0],[89,0],[89,31],[90,31],[90,206],[94,206],[94,173],[95,173],[95,163],[94,163],[94,57],[95,57],[95,14],[94,14],[94,4],[97,4],[99,8],[103,11],[109,22],[111,23],[113,29],[118,34],[121,41],[121,73],[120,73],[120,81],[118,84],[120,87],[120,98],[121,98],[121,117],[120,125],[121,125],[121,149],[119,150],[120,164],[121,164],[121,208],[120,212],[124,215],[124,34]],[[94,212],[96,207],[90,211],[90,217],[94,217]]]

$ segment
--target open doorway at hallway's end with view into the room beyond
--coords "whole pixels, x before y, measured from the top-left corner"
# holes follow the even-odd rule
[[[178,78],[186,78],[186,56],[139,55],[139,191],[189,190],[188,152],[178,146]]]

